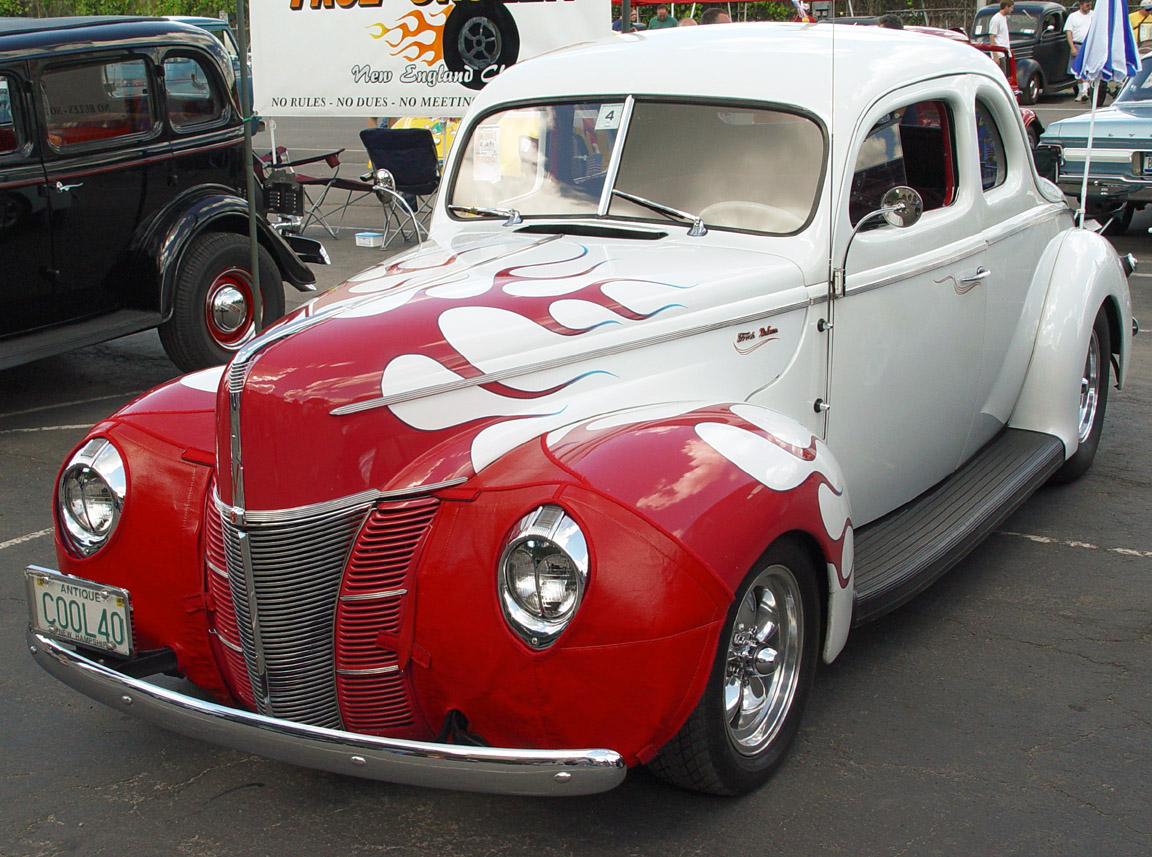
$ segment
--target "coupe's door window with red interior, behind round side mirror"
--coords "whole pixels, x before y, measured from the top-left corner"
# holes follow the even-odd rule
[[[956,198],[952,114],[942,101],[918,101],[881,116],[869,131],[852,173],[848,213],[857,223],[880,207],[887,190],[914,188],[924,210]]]

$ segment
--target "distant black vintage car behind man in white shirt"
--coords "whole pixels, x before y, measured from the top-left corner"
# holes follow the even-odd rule
[[[990,24],[998,12],[999,3],[977,9],[972,20],[973,43],[988,44]],[[1071,48],[1064,36],[1067,15],[1060,3],[1017,2],[1008,16],[1021,104],[1036,104],[1043,94],[1076,85],[1076,78],[1068,71]]]

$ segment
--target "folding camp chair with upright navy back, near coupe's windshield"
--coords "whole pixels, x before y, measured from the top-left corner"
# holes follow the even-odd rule
[[[440,188],[440,162],[427,128],[365,128],[361,142],[372,161],[376,195],[384,204],[384,247],[427,236],[432,199]],[[410,229],[410,230],[409,230]]]

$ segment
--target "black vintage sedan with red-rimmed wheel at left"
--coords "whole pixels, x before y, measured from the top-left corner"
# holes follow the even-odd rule
[[[253,288],[238,105],[197,28],[0,18],[0,367],[158,327],[200,369],[283,314],[283,281],[312,288],[263,219]]]

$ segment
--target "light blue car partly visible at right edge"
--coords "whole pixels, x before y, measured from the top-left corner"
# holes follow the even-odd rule
[[[1055,150],[1056,183],[1079,199],[1084,165],[1089,164],[1085,212],[1115,234],[1128,230],[1132,214],[1152,202],[1152,55],[1109,107],[1096,113],[1092,157],[1087,134],[1092,116],[1083,114],[1053,122],[1040,137]]]

